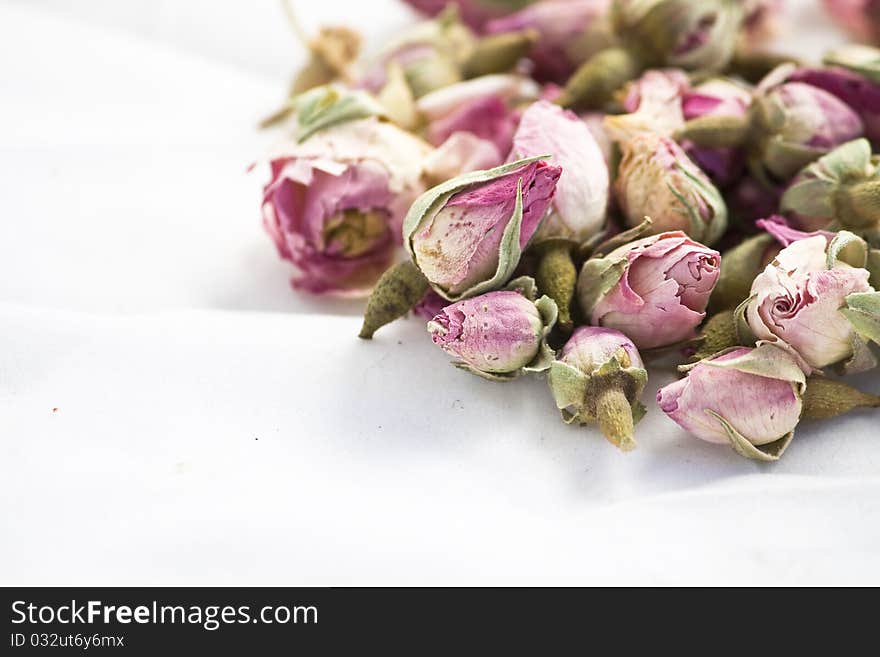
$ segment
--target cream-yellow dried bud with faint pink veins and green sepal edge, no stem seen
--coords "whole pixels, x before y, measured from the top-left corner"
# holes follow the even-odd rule
[[[650,216],[654,232],[682,230],[705,244],[721,237],[724,199],[674,140],[642,134],[621,146],[614,194],[629,226]]]

